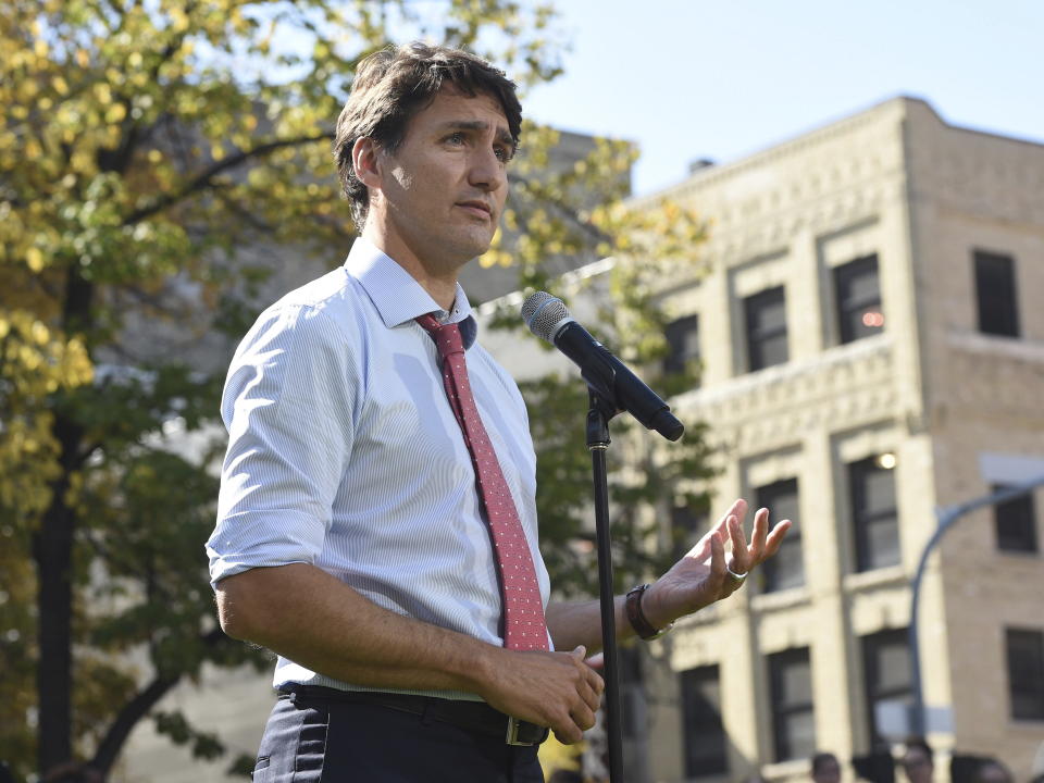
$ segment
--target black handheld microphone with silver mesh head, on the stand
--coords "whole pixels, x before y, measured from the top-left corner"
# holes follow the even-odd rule
[[[670,406],[576,323],[561,299],[536,291],[522,304],[522,320],[533,334],[572,359],[587,385],[618,411],[630,412],[668,440],[678,440],[685,432]]]

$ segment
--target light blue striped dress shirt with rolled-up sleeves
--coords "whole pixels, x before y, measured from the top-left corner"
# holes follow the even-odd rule
[[[547,605],[536,457],[518,386],[475,341],[460,286],[446,313],[362,238],[344,266],[265,310],[236,350],[221,406],[228,451],[217,524],[207,543],[214,584],[252,568],[313,563],[394,612],[502,644],[471,457],[435,343],[413,320],[428,312],[461,324],[475,402]],[[357,688],[281,657],[274,684],[286,682]]]

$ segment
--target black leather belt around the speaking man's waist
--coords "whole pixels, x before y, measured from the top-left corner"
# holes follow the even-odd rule
[[[435,696],[413,696],[371,691],[340,691],[323,685],[287,683],[279,686],[279,694],[302,701],[338,701],[366,704],[422,716],[449,723],[458,729],[500,737],[508,745],[539,745],[547,739],[544,726],[506,716],[485,701],[464,701]]]

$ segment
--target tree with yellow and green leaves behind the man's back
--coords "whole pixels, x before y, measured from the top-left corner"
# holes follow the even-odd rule
[[[213,619],[200,545],[224,368],[195,344],[254,315],[271,263],[246,251],[335,261],[347,247],[328,147],[362,57],[430,35],[524,86],[558,72],[554,14],[508,0],[13,0],[2,13],[0,663],[20,676],[0,681],[0,743],[18,773],[80,758],[104,775],[151,716],[215,756],[217,737],[156,709],[204,663],[263,663]],[[617,187],[618,159],[605,147],[557,184],[520,172],[508,246],[527,282],[549,253],[626,249],[633,216],[571,206],[581,186]]]

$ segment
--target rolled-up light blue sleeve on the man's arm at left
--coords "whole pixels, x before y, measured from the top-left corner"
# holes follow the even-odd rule
[[[359,387],[353,340],[307,306],[264,313],[228,369],[228,450],[211,583],[252,568],[314,562],[351,453]]]

